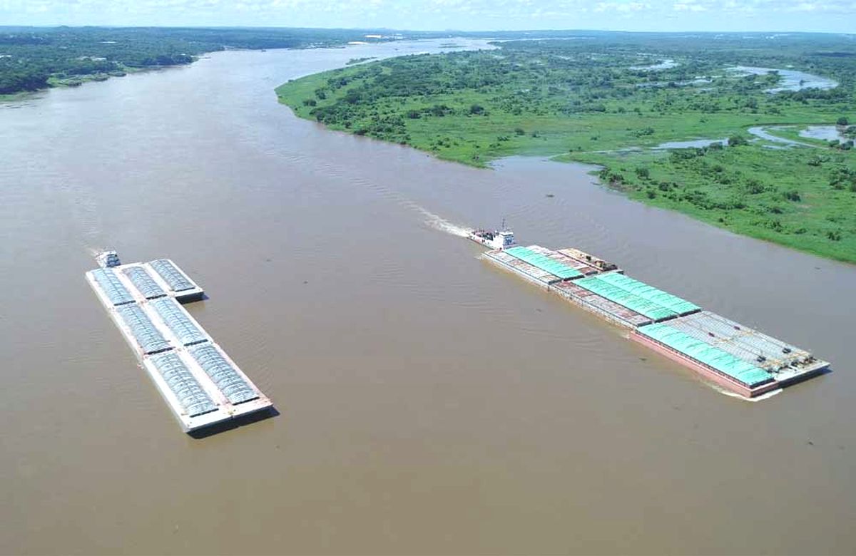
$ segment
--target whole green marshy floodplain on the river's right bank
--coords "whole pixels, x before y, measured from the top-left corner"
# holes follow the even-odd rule
[[[276,93],[301,117],[460,163],[597,164],[603,184],[630,198],[856,263],[853,37],[576,33],[495,44],[314,74]],[[800,137],[810,125],[845,135]],[[693,139],[707,141],[657,148]]]

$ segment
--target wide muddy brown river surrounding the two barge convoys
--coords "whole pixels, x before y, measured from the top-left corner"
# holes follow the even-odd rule
[[[0,553],[856,552],[856,266],[276,103],[439,44],[224,52],[0,105]],[[728,397],[441,216],[608,257],[833,372]],[[83,279],[104,246],[199,281],[189,311],[279,414],[183,434]]]

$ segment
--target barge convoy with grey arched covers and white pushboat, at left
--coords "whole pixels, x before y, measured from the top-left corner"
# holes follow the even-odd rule
[[[185,432],[272,406],[181,306],[204,293],[175,263],[121,264],[115,251],[96,258],[101,268],[86,281]]]

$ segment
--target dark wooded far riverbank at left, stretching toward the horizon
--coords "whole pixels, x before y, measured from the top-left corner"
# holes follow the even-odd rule
[[[365,34],[355,29],[0,27],[0,98],[187,64],[205,52],[341,46],[371,40]]]

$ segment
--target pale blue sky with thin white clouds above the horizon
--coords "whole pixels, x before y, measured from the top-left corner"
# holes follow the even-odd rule
[[[0,0],[0,25],[856,33],[856,0]]]

